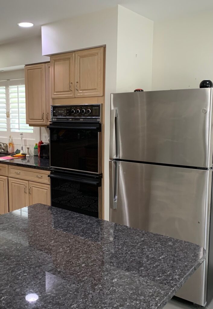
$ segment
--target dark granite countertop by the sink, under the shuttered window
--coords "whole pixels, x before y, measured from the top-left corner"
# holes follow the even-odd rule
[[[1,159],[1,158],[0,158]],[[49,159],[40,159],[34,155],[31,155],[22,159],[11,159],[11,160],[0,160],[0,163],[8,164],[8,165],[16,165],[30,168],[37,168],[40,170],[49,171]]]

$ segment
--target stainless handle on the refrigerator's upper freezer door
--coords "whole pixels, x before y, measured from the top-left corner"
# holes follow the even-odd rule
[[[110,117],[110,142],[109,142],[109,159],[119,158],[119,129],[117,109],[111,110]]]

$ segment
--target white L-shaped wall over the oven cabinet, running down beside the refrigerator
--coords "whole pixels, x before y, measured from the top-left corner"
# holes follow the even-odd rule
[[[117,7],[41,27],[42,53],[50,55],[106,45],[104,217],[109,219],[109,115],[110,93],[116,91]]]

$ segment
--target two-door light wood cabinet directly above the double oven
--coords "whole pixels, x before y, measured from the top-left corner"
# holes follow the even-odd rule
[[[52,98],[102,96],[104,48],[50,56]]]

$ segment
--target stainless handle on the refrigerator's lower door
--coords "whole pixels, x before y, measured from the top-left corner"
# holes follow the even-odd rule
[[[114,172],[115,170],[115,172]],[[119,187],[119,161],[109,161],[110,181],[110,207],[117,209],[118,187]]]

